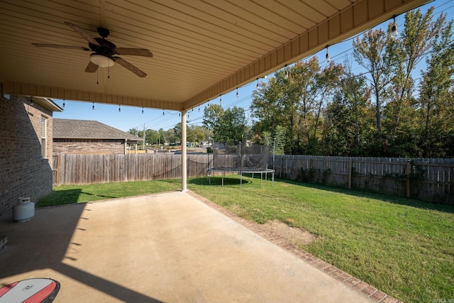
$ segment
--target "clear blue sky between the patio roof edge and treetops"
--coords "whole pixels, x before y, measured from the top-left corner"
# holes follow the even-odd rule
[[[426,4],[421,7],[422,11],[426,11],[428,7],[435,6],[435,18],[438,18],[440,13],[447,13],[448,21],[454,17],[454,0],[436,0],[432,1],[429,4]],[[385,21],[380,26],[387,28],[387,24],[391,21]],[[397,29],[402,28],[404,23],[404,15],[397,16]],[[345,60],[346,56],[351,58],[352,46],[351,39],[345,40],[342,43],[330,46],[328,48],[328,53],[331,57],[331,60],[334,62],[341,63]],[[321,62],[321,67],[323,67],[326,50],[321,50],[316,54],[319,57],[319,62]],[[353,59],[350,59],[353,61]],[[359,67],[355,67],[358,69]],[[354,70],[354,72],[361,72]],[[270,75],[272,76],[272,75]],[[269,79],[269,77],[268,77]],[[267,79],[260,79],[262,82],[266,82]],[[222,106],[224,109],[231,108],[233,106],[243,107],[245,109],[246,116],[249,116],[249,106],[252,101],[253,91],[256,89],[257,81],[246,84],[243,87],[238,88],[238,98],[236,97],[236,90],[225,94],[222,96]],[[121,106],[121,111],[118,111],[118,105],[108,105],[108,104],[94,104],[94,110],[92,109],[93,104],[82,101],[69,101],[69,100],[59,100],[54,99],[54,101],[62,106],[65,102],[64,111],[59,113],[54,113],[54,118],[56,119],[81,119],[81,120],[95,120],[106,125],[118,128],[121,131],[128,131],[131,128],[143,129],[144,125],[147,129],[158,130],[163,128],[167,130],[173,128],[177,123],[181,122],[179,116],[179,111],[164,111],[162,115],[162,109],[143,109],[141,107],[133,106]],[[210,104],[219,104],[219,97],[209,101]],[[206,106],[206,104],[204,104]],[[204,114],[204,106],[200,106],[200,111],[194,109],[189,111],[189,117],[187,119],[188,125],[191,124],[201,124]],[[249,119],[250,121],[250,119]]]

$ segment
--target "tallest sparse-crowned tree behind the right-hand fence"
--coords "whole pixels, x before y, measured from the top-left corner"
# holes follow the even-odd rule
[[[445,16],[441,14],[436,21],[433,21],[433,7],[423,14],[421,10],[409,11],[405,14],[404,29],[400,33],[399,39],[389,40],[387,44],[387,54],[390,64],[394,67],[392,70],[392,81],[389,87],[389,102],[384,111],[386,122],[384,128],[387,129],[390,155],[404,156],[407,153],[414,153],[416,146],[408,145],[402,140],[402,136],[408,138],[416,136],[416,129],[411,128],[414,122],[410,117],[415,116],[416,108],[412,104],[412,94],[415,90],[413,79],[416,66],[426,57],[427,53],[433,48],[438,40],[443,26]],[[392,23],[389,24],[388,32],[391,31]],[[401,118],[405,116],[402,126]],[[403,132],[403,129],[406,132]],[[403,148],[402,143],[406,145]],[[414,142],[416,143],[416,141]],[[413,151],[406,151],[411,147]]]

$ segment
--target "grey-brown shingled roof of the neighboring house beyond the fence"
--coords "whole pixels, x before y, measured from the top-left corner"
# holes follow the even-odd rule
[[[142,141],[131,135],[98,121],[53,119],[53,138],[55,139],[109,139],[127,140],[129,143]]]

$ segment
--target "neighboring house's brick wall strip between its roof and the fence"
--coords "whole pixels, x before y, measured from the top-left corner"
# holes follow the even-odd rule
[[[114,154],[125,153],[124,140],[98,140],[98,139],[54,139],[54,153],[97,153]]]

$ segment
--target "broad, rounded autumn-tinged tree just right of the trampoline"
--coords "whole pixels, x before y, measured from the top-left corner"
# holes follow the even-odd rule
[[[277,126],[284,126],[286,153],[316,153],[322,112],[342,72],[334,63],[321,70],[317,57],[276,72],[254,92],[250,109],[260,119],[255,131],[275,133]]]

